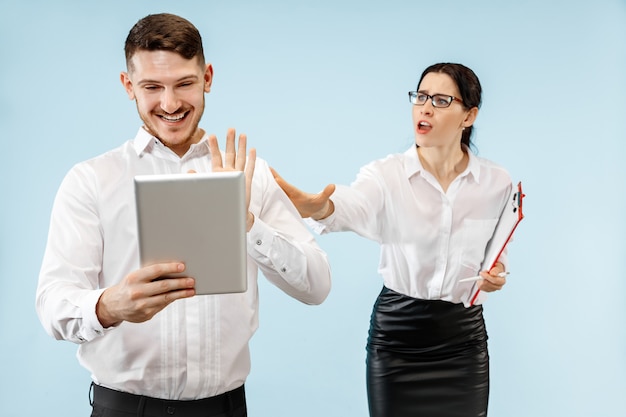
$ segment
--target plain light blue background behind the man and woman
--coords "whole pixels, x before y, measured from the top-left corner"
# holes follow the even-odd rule
[[[479,154],[523,180],[512,275],[485,306],[490,415],[625,415],[626,2],[0,0],[0,414],[87,416],[76,346],[34,310],[56,189],[76,162],[131,138],[123,42],[149,13],[194,22],[215,69],[202,125],[248,134],[309,191],[412,142],[421,71],[480,77]],[[365,416],[365,341],[378,247],[318,239],[321,306],[261,280],[251,416]]]

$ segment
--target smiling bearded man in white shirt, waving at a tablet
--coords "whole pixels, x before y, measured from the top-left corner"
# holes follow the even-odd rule
[[[131,29],[121,82],[143,126],[130,140],[74,166],[51,216],[37,289],[46,331],[79,344],[93,378],[93,414],[246,416],[248,342],[258,324],[257,274],[307,304],[330,290],[326,254],[246,137],[198,128],[213,68],[187,20],[150,15]],[[248,290],[194,297],[181,263],[139,267],[133,177],[245,171]],[[190,174],[192,175],[192,174]],[[184,216],[185,213],[181,213]]]

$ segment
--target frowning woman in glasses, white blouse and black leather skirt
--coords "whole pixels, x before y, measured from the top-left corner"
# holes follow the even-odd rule
[[[319,194],[274,173],[318,233],[349,230],[381,245],[384,286],[367,345],[373,417],[487,414],[481,303],[483,292],[504,285],[506,260],[490,271],[480,266],[511,179],[470,151],[481,90],[469,68],[432,65],[409,93],[415,146],[366,165],[350,187],[331,184]]]

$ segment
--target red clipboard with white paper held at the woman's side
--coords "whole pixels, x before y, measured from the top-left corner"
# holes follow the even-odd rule
[[[485,259],[480,268],[481,271],[490,271],[498,262],[498,258],[500,258],[500,255],[504,252],[506,245],[511,241],[513,232],[515,232],[517,225],[524,218],[522,211],[522,201],[524,197],[526,197],[526,195],[522,193],[522,183],[520,181],[517,184],[517,190],[511,189],[511,194],[502,211],[502,215],[500,215],[496,230],[493,232],[493,236],[487,244]],[[474,305],[479,293],[480,290],[476,290],[474,295],[470,298],[470,306]]]

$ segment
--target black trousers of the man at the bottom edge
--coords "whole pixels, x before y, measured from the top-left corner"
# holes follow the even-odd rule
[[[240,408],[246,404],[244,386],[200,400],[163,400],[106,388],[94,383],[93,404],[138,416],[206,417]]]

